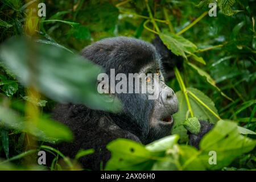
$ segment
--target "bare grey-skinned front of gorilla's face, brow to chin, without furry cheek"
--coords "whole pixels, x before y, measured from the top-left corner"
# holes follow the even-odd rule
[[[149,73],[158,76],[158,79],[155,79],[155,77],[146,77],[146,84],[154,85],[154,94],[157,97],[148,102],[148,95],[151,95],[151,92],[147,93],[147,97],[141,94],[138,98],[142,100],[141,103],[152,105],[152,107],[148,107],[148,104],[138,105],[138,107],[142,107],[144,110],[151,110],[147,121],[147,134],[142,137],[143,139],[141,138],[142,142],[145,144],[171,134],[171,128],[174,124],[172,115],[178,110],[176,94],[174,90],[165,84],[163,74],[159,69],[159,60],[152,62],[153,63],[146,65],[146,67],[143,67],[141,72],[139,72],[145,73],[146,75]],[[136,110],[140,111],[141,109],[137,108]]]

